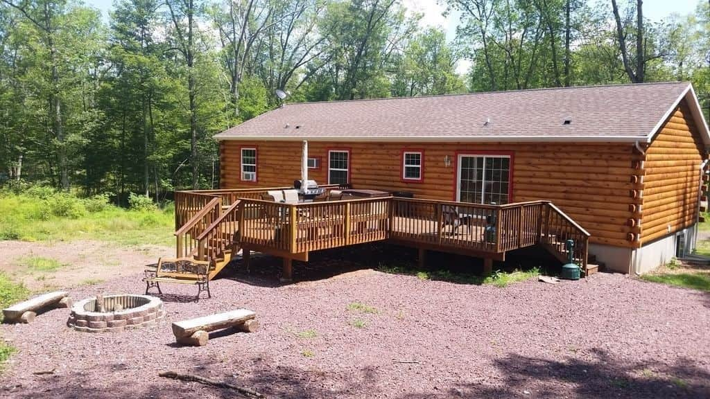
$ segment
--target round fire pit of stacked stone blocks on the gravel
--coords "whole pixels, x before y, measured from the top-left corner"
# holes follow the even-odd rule
[[[148,327],[163,318],[163,301],[150,295],[97,295],[72,306],[67,325],[82,332]]]

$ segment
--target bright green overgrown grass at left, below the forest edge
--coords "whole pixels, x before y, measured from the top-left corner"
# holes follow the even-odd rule
[[[129,210],[68,194],[0,192],[0,239],[172,245],[172,209]]]

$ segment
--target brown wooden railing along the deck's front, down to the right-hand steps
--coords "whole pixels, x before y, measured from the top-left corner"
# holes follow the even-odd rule
[[[240,240],[245,246],[304,253],[383,239],[457,250],[502,253],[545,244],[586,269],[589,233],[547,201],[505,205],[396,197],[283,204],[241,200]]]

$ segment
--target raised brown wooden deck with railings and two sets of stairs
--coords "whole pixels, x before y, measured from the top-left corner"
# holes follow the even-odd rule
[[[331,190],[334,187],[327,187]],[[284,190],[284,187],[280,187]],[[481,257],[490,268],[506,252],[541,245],[560,261],[572,239],[574,261],[586,272],[589,233],[548,201],[505,205],[398,197],[285,204],[257,200],[266,190],[178,192],[177,256],[211,263],[214,277],[241,248],[293,260],[308,254],[373,241]],[[490,271],[490,270],[486,270]]]

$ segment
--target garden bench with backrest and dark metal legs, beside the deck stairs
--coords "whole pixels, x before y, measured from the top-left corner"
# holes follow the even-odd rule
[[[146,269],[146,277],[143,278],[143,281],[146,282],[146,295],[148,295],[148,290],[153,287],[158,289],[159,294],[162,294],[160,283],[175,283],[195,284],[197,285],[198,299],[202,291],[207,291],[207,297],[211,298],[208,273],[209,262],[196,261],[192,258],[159,258],[155,268]]]

